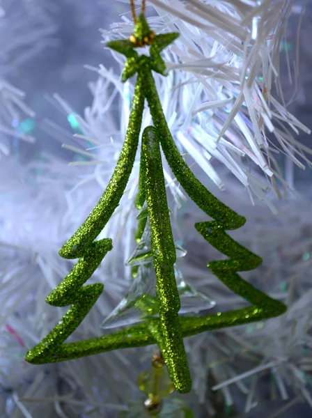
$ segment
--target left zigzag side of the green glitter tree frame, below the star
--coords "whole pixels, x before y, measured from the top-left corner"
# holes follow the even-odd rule
[[[47,303],[55,307],[65,307],[72,304],[72,307],[60,323],[37,346],[29,350],[26,356],[26,361],[29,363],[42,364],[59,361],[58,359],[61,359],[59,350],[63,348],[61,344],[84,320],[103,291],[102,284],[81,286],[98,268],[107,251],[112,249],[110,239],[93,241],[117,208],[133,168],[139,144],[145,98],[141,89],[142,82],[141,77],[138,77],[125,141],[109,184],[84,224],[59,251],[63,258],[79,257],[79,261],[68,276],[61,281],[61,284],[49,294]]]

